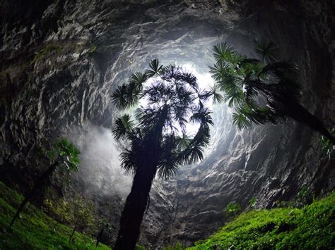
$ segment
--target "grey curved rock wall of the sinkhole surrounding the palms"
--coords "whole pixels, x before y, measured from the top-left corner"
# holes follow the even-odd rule
[[[34,149],[45,139],[70,137],[84,154],[73,187],[94,199],[102,216],[112,215],[113,240],[131,179],[110,167],[118,154],[117,144],[106,146],[114,143],[108,130],[118,112],[110,93],[155,57],[204,73],[211,46],[222,41],[249,56],[256,56],[255,41],[277,42],[281,57],[300,67],[302,104],[334,126],[331,8],[331,1],[4,1],[1,180],[24,191],[43,168]],[[155,182],[141,243],[159,248],[206,237],[222,225],[230,201],[246,206],[255,197],[271,207],[303,185],[317,194],[334,188],[334,160],[322,154],[316,132],[291,121],[237,131],[224,105],[214,116],[206,159]]]

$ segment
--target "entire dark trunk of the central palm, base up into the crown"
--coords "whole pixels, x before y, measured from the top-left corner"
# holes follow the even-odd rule
[[[136,173],[127,196],[120,219],[119,234],[114,250],[134,250],[139,239],[140,227],[148,204],[153,178],[155,177],[160,157],[160,142],[163,137],[163,127],[167,119],[168,107],[165,106],[158,123],[150,131],[144,141],[143,155],[136,159]]]

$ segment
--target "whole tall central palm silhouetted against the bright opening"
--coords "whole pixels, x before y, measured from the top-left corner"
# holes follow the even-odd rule
[[[129,83],[112,93],[119,108],[146,100],[137,108],[134,119],[122,115],[112,130],[115,139],[125,139],[129,145],[120,154],[121,165],[126,173],[134,175],[115,250],[135,249],[155,175],[170,177],[180,165],[193,164],[204,157],[203,149],[213,125],[211,111],[206,108],[210,98],[221,101],[216,87],[201,91],[192,73],[176,65],[160,65],[158,59],[151,61],[144,73],[131,75]],[[188,122],[199,124],[193,137],[187,135]]]

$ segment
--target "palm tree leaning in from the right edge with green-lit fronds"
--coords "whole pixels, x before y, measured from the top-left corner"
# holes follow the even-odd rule
[[[299,103],[298,67],[287,61],[276,62],[276,44],[261,42],[257,46],[261,60],[242,56],[227,44],[214,46],[213,52],[216,63],[210,67],[211,74],[228,106],[234,108],[233,122],[237,127],[276,124],[292,118],[335,144],[323,123]]]

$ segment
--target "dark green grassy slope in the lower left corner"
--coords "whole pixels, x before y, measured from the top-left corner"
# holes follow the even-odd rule
[[[27,205],[12,228],[8,224],[23,197],[0,182],[0,249],[110,249],[78,232],[69,243],[71,228],[57,223],[40,209]]]

